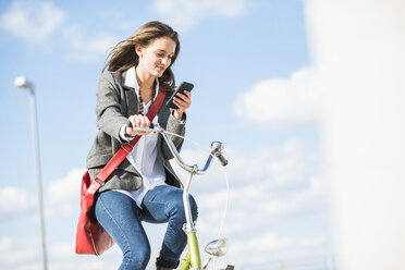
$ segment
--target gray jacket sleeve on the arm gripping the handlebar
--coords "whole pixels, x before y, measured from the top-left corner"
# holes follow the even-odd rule
[[[111,72],[103,72],[97,91],[97,126],[111,137],[124,143],[120,136],[120,130],[127,119],[122,113],[122,107],[120,89]]]

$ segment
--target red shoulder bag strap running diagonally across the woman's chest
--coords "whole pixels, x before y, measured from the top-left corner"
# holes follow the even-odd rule
[[[160,107],[163,103],[164,97],[165,97],[165,91],[159,90],[157,98],[155,99],[148,113],[146,114],[146,116],[149,119],[150,122],[152,122],[156,114],[160,110]],[[102,168],[102,170],[97,174],[95,179],[95,182],[98,183],[99,186],[101,186],[102,183],[105,183],[105,181],[111,175],[111,173],[126,158],[126,156],[132,151],[136,143],[138,143],[140,137],[142,135],[136,135],[130,143],[123,144],[120,150],[118,150],[115,155],[111,158],[111,160],[105,165],[105,168]]]

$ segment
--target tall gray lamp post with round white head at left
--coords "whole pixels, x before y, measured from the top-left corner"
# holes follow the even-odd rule
[[[40,225],[40,236],[41,236],[41,247],[42,247],[42,266],[44,270],[47,270],[47,249],[45,243],[45,221],[44,221],[44,202],[42,202],[42,186],[41,186],[41,173],[40,173],[40,162],[39,162],[39,146],[38,146],[38,130],[37,130],[37,113],[35,103],[35,91],[34,85],[29,83],[25,77],[19,76],[14,79],[14,85],[29,90],[30,94],[30,119],[32,119],[32,130],[33,130],[33,140],[34,140],[34,154],[35,154],[35,171],[37,180],[37,194],[38,194],[38,211],[39,211],[39,225]]]

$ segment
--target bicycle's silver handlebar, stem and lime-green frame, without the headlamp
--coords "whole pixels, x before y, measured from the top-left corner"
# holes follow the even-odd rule
[[[199,254],[197,231],[193,222],[192,210],[189,207],[189,188],[192,186],[192,181],[193,181],[194,175],[204,174],[210,167],[212,157],[217,157],[222,165],[228,164],[228,160],[222,156],[222,152],[221,152],[223,150],[223,144],[220,142],[212,142],[211,154],[209,155],[204,169],[200,170],[198,169],[196,164],[188,165],[182,160],[176,147],[174,146],[172,139],[170,138],[168,133],[165,133],[163,127],[159,126],[158,124],[155,124],[152,128],[135,127],[134,130],[160,133],[163,136],[165,143],[168,144],[169,149],[172,152],[174,160],[177,162],[177,164],[183,170],[186,170],[188,172],[187,182],[183,189],[183,204],[184,204],[185,218],[186,218],[186,223],[183,225],[183,230],[185,234],[187,235],[188,251],[182,265],[180,266],[180,270],[188,270],[188,269],[200,270],[201,269],[201,257]],[[221,256],[221,255],[217,255],[217,256]]]

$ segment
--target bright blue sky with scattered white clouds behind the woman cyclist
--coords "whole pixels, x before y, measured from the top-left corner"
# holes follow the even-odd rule
[[[108,51],[151,20],[180,33],[173,71],[195,84],[186,136],[226,145],[229,261],[331,253],[302,1],[0,1],[0,268],[40,269],[29,95],[13,85],[19,75],[36,87],[50,269],[119,265],[116,247],[101,258],[73,254],[78,181]],[[184,156],[205,159],[191,144]],[[205,244],[223,208],[220,171],[194,191]],[[155,249],[163,229],[148,229]]]

